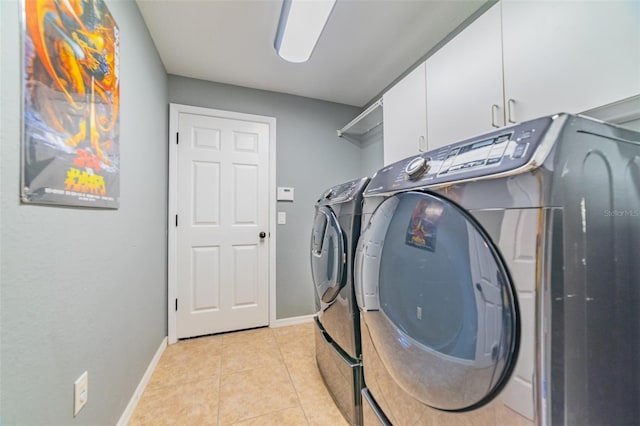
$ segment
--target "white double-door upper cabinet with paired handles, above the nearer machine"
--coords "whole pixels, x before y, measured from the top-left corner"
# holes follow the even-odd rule
[[[640,2],[496,3],[426,61],[429,149],[640,94]]]

